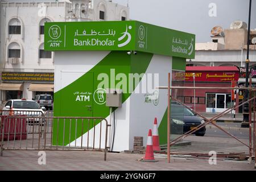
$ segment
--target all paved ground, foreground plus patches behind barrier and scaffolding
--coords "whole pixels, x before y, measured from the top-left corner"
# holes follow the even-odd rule
[[[240,123],[225,122],[217,123],[242,142],[248,144],[249,129],[241,128]],[[46,143],[49,143],[47,136]],[[200,152],[208,153],[216,151],[218,153],[228,154],[229,152],[245,152],[249,154],[246,146],[243,146],[237,140],[228,137],[225,133],[218,130],[213,125],[207,126],[205,137],[189,136],[184,139],[191,142],[190,146],[172,147],[172,152]],[[34,141],[34,145],[38,145],[38,141]],[[44,143],[44,139],[40,140]],[[10,146],[14,142],[10,141]],[[19,140],[16,141],[16,147],[32,145],[32,140],[28,143]],[[217,165],[210,165],[208,159],[189,159],[177,158],[171,156],[171,163],[167,163],[167,155],[155,154],[155,158],[159,160],[156,163],[146,163],[138,161],[144,155],[140,154],[123,154],[108,153],[107,161],[104,161],[103,152],[89,151],[46,151],[46,165],[39,165],[38,151],[4,151],[3,157],[0,157],[0,170],[256,170],[254,162],[249,164],[247,160],[217,160]]]

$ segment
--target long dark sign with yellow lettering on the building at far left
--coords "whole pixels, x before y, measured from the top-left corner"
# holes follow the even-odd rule
[[[54,73],[2,72],[3,82],[53,82]]]

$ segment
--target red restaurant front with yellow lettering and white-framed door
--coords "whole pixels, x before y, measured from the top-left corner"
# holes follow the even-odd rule
[[[195,74],[195,76],[193,76]],[[185,86],[213,87],[213,89],[187,89],[183,102],[200,112],[222,112],[238,103],[231,89],[218,89],[237,86],[237,67],[186,67]],[[233,82],[233,84],[232,84]],[[238,110],[237,110],[238,111]]]

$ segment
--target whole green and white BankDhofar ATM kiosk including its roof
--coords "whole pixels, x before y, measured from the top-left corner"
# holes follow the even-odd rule
[[[157,86],[167,86],[169,72],[185,71],[185,59],[195,56],[195,35],[133,20],[49,22],[44,49],[55,52],[55,116],[109,121],[106,90],[121,89],[122,106],[114,108],[111,123],[113,127],[115,122],[113,151],[133,149],[134,137],[143,137],[146,144],[155,117],[160,144],[167,142],[167,90]],[[75,140],[81,143],[81,135],[86,146],[87,132],[75,138],[73,127],[71,146]],[[53,138],[56,135],[53,130]],[[69,145],[68,138],[64,143]]]

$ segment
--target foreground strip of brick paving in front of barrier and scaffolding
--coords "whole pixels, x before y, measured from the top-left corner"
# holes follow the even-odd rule
[[[143,155],[108,153],[107,161],[103,152],[47,151],[46,165],[38,164],[38,151],[5,151],[0,157],[0,170],[255,170],[254,164],[246,161],[219,161],[210,165],[208,160],[187,160],[172,158],[167,163],[166,155],[156,154],[159,162],[140,162]]]

